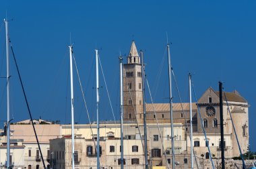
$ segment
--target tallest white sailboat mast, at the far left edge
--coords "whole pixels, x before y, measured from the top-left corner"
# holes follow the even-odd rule
[[[10,103],[9,103],[9,30],[7,18],[5,22],[5,43],[6,43],[6,81],[7,81],[7,168],[10,167]]]

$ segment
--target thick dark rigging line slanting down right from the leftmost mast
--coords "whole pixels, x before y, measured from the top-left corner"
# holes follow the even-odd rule
[[[27,108],[28,108],[28,113],[30,115],[30,120],[32,121],[32,126],[33,126],[33,129],[34,129],[34,135],[36,136],[36,142],[38,144],[38,149],[39,149],[39,152],[40,152],[40,156],[42,158],[42,164],[44,165],[44,169],[46,169],[46,166],[44,164],[44,158],[42,156],[42,150],[40,148],[40,144],[39,144],[39,141],[38,141],[38,137],[37,137],[37,134],[36,134],[36,129],[34,127],[34,123],[33,123],[33,118],[32,118],[32,114],[30,112],[30,107],[28,105],[28,99],[26,97],[26,93],[25,93],[25,89],[24,89],[24,86],[23,86],[23,82],[22,82],[22,77],[20,76],[20,70],[18,68],[18,63],[16,62],[16,58],[15,58],[15,54],[13,52],[13,47],[12,47],[12,44],[11,44],[11,40],[9,39],[9,44],[11,46],[11,52],[12,52],[12,55],[13,55],[13,59],[14,59],[14,62],[15,62],[15,66],[16,66],[16,69],[18,71],[18,75],[19,75],[19,78],[20,78],[20,84],[22,85],[22,91],[23,91],[23,94],[24,94],[24,97],[25,97],[25,101],[26,101],[26,105],[27,105]]]

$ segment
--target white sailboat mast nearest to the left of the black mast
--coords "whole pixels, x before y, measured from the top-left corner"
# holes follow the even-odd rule
[[[191,97],[191,74],[189,73],[189,109],[190,109],[190,154],[191,169],[193,169],[193,123],[192,123],[192,97]]]

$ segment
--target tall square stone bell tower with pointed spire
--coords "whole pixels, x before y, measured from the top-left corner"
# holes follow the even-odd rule
[[[125,121],[143,121],[141,63],[135,42],[123,65],[123,119]]]

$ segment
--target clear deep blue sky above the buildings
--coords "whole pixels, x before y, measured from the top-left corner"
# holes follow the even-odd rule
[[[92,120],[96,120],[94,49],[100,58],[116,118],[119,119],[119,53],[131,40],[145,55],[146,73],[156,103],[168,100],[166,32],[172,66],[184,102],[189,101],[188,73],[197,97],[208,88],[236,89],[247,101],[251,149],[256,151],[255,56],[256,1],[1,1],[9,36],[20,66],[34,118],[70,123],[68,45],[81,76]],[[162,60],[164,59],[164,64]],[[160,74],[162,70],[162,73]],[[0,76],[5,76],[5,29],[0,23]],[[0,78],[0,117],[6,120],[6,82]],[[113,120],[100,75],[100,119]],[[75,121],[86,123],[77,76]],[[179,102],[173,89],[174,102]],[[147,96],[148,98],[148,96]],[[147,102],[150,102],[148,99]],[[11,117],[28,119],[18,74],[11,58]]]

